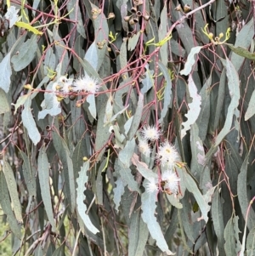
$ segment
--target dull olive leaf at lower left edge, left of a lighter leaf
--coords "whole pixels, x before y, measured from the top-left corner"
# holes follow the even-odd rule
[[[8,225],[10,229],[14,232],[14,236],[17,236],[21,239],[21,229],[20,225],[17,222],[17,219],[14,216],[14,212],[11,208],[11,201],[8,193],[8,186],[6,179],[3,174],[2,167],[0,166],[0,205],[3,209],[3,213],[7,215]]]

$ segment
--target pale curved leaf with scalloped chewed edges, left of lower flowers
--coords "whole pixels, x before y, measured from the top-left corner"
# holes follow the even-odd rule
[[[88,168],[89,162],[84,162],[81,171],[79,172],[79,177],[77,178],[77,210],[80,216],[82,217],[84,225],[92,233],[96,234],[97,232],[99,232],[99,230],[93,225],[93,223],[88,217],[88,214],[86,214],[87,206],[84,204],[84,200],[86,199],[86,196],[84,195],[84,184],[88,182]]]

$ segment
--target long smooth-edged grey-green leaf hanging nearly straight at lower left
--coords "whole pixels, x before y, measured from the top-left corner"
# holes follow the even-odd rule
[[[41,188],[42,201],[48,216],[48,221],[51,224],[52,229],[55,231],[56,225],[54,221],[54,212],[51,203],[52,201],[49,187],[49,163],[45,145],[42,145],[38,156],[38,177]]]

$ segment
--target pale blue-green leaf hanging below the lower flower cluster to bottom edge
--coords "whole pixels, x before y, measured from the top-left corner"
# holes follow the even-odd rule
[[[147,224],[148,230],[150,231],[150,236],[156,240],[156,245],[161,249],[162,252],[167,253],[167,255],[174,255],[168,246],[163,236],[162,230],[158,222],[156,221],[155,211],[156,211],[156,193],[144,192],[142,194],[142,218]]]

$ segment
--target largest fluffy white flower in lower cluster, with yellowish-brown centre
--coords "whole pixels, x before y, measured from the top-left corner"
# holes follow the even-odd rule
[[[178,151],[169,142],[160,145],[156,158],[160,160],[162,166],[170,169],[174,167],[175,162],[179,162]]]

